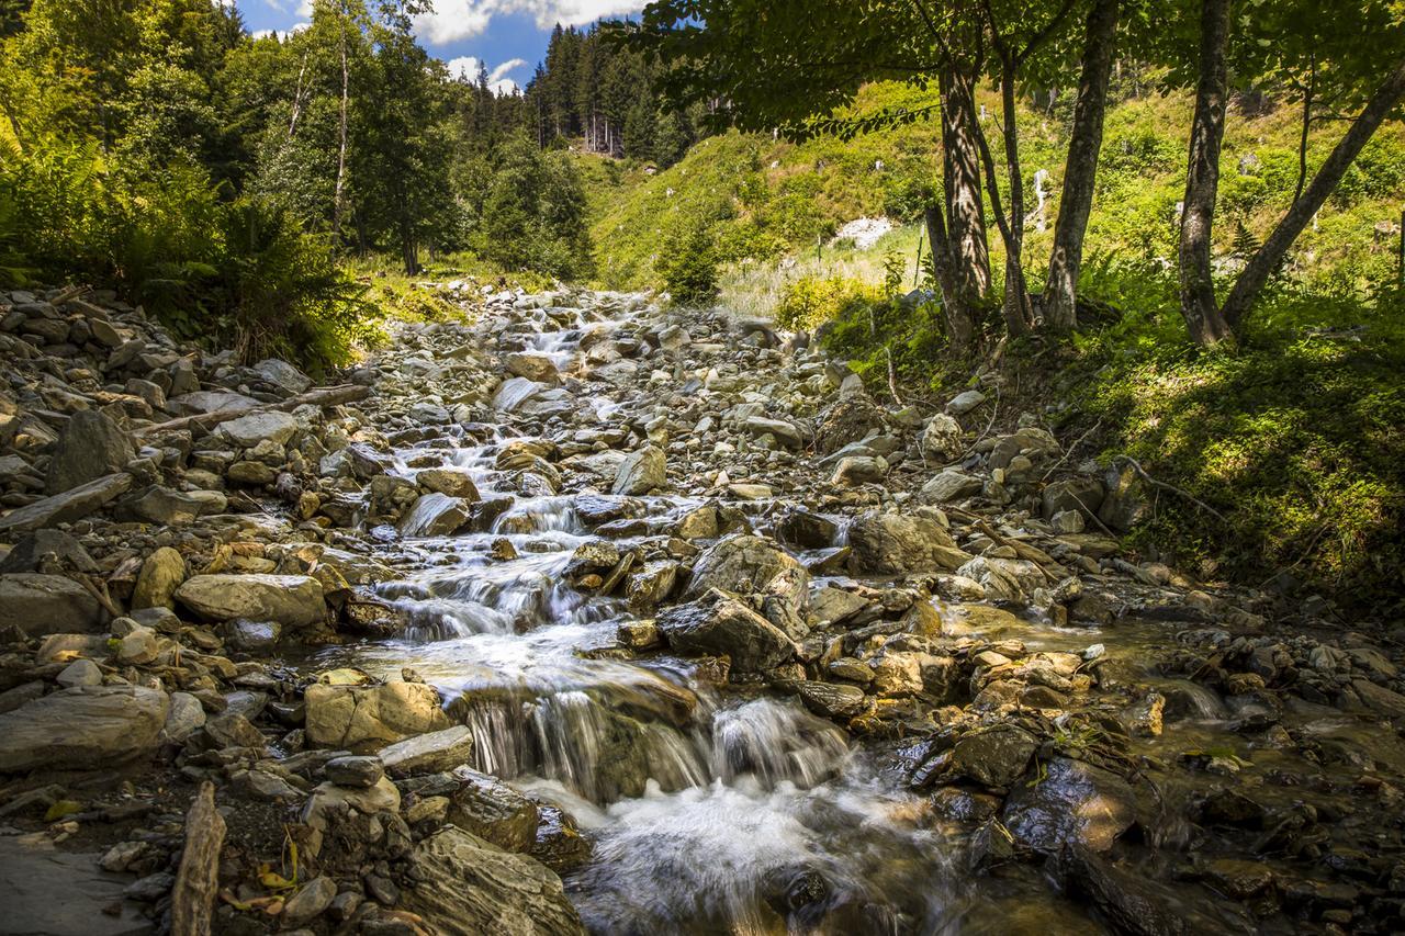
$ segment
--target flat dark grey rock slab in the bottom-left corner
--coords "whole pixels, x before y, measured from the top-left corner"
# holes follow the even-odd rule
[[[59,852],[0,836],[0,933],[4,936],[138,936],[156,928],[122,901],[131,876],[108,874],[98,853]],[[118,905],[115,916],[105,908]]]

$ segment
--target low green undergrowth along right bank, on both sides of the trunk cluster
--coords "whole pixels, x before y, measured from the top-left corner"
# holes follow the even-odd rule
[[[1239,347],[1203,351],[1156,267],[1094,257],[1083,292],[1102,325],[999,356],[998,430],[1034,413],[1065,444],[1080,440],[1072,464],[1130,455],[1190,495],[1151,490],[1151,519],[1127,537],[1142,557],[1255,586],[1287,573],[1356,610],[1405,610],[1405,295],[1279,285]],[[998,311],[986,315],[993,332]],[[939,405],[992,367],[992,342],[955,357],[934,305],[857,280],[799,280],[778,319],[819,320],[825,350],[887,402],[889,356],[903,403]]]

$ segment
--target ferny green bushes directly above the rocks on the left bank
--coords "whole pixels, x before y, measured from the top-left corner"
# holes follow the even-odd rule
[[[0,267],[18,281],[118,288],[184,339],[344,364],[370,332],[330,245],[267,200],[229,202],[188,163],[136,177],[90,145],[0,164]]]

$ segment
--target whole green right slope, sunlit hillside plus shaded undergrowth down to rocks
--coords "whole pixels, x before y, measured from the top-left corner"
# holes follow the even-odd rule
[[[933,103],[930,91],[877,84],[856,110]],[[996,101],[982,103],[998,139]],[[1071,343],[1016,343],[982,379],[1005,381],[1002,422],[1043,412],[1065,438],[1083,438],[1079,458],[1132,455],[1227,517],[1163,495],[1130,542],[1144,555],[1208,578],[1281,580],[1398,614],[1405,291],[1391,284],[1405,208],[1405,126],[1387,125],[1367,146],[1295,245],[1288,281],[1245,322],[1239,350],[1198,353],[1179,313],[1170,261],[1190,107],[1183,94],[1151,94],[1109,114],[1082,292],[1114,315]],[[1068,118],[1066,108],[1020,112],[1031,212],[1037,170],[1051,176],[1044,229],[1037,215],[1028,219],[1034,288],[1058,209]],[[1222,273],[1291,201],[1297,119],[1291,105],[1231,111],[1215,232]],[[1309,166],[1340,132],[1336,122],[1314,132]],[[832,320],[826,346],[850,360],[875,396],[889,395],[889,357],[908,402],[951,394],[976,378],[969,361],[944,353],[939,312],[901,309],[878,287],[894,254],[903,263],[902,288],[913,282],[916,218],[936,180],[936,146],[937,126],[922,121],[851,142],[726,134],[656,174],[582,157],[599,277],[613,287],[658,285],[660,254],[677,249],[680,232],[704,226],[725,260],[725,306],[806,325]],[[873,247],[828,243],[844,222],[877,215],[896,226]],[[991,245],[999,275],[993,225]]]

